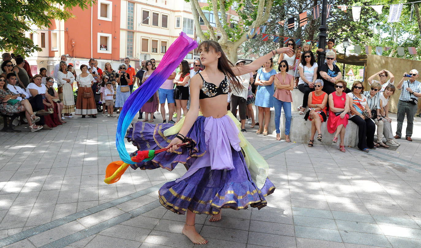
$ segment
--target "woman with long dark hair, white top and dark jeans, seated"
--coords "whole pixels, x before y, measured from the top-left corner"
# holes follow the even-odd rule
[[[303,104],[297,108],[300,115],[304,114],[309,101],[309,93],[314,91],[314,81],[317,78],[317,63],[314,59],[312,51],[303,52],[301,55],[301,63],[298,67],[300,78],[298,79],[298,89],[304,93]]]

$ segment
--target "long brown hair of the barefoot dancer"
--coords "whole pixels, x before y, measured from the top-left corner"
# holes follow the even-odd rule
[[[200,47],[202,47],[205,52],[209,52],[209,49],[212,49],[215,52],[221,52],[221,57],[218,59],[218,70],[222,71],[226,75],[229,80],[229,84],[233,86],[236,91],[240,91],[243,87],[240,84],[240,81],[238,81],[238,78],[235,76],[234,72],[231,70],[231,66],[234,65],[225,56],[225,53],[222,51],[222,48],[218,42],[213,40],[205,40],[199,44],[199,49]]]

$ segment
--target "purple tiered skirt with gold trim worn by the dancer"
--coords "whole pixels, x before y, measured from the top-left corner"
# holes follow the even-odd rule
[[[163,134],[172,126],[137,122],[128,130],[126,138],[139,150],[162,149],[175,137]],[[151,161],[131,164],[131,167],[141,170],[162,167],[171,171],[178,163],[184,164],[186,174],[165,183],[159,190],[160,203],[177,214],[189,209],[196,214],[213,215],[221,208],[238,210],[248,205],[261,209],[267,204],[264,197],[275,187],[268,178],[261,189],[256,187],[240,148],[238,132],[228,115],[199,116],[187,134],[195,141],[194,147],[162,152]],[[136,154],[137,151],[131,156]]]

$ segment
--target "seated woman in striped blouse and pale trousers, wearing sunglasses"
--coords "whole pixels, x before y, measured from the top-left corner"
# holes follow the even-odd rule
[[[368,91],[364,91],[365,97],[367,97],[367,106],[371,112],[371,119],[374,120],[374,123],[377,126],[377,143],[374,142],[374,146],[389,148],[386,144],[383,143],[383,123],[384,120],[380,115],[380,93],[381,85],[379,83],[374,82],[371,84],[371,89]]]

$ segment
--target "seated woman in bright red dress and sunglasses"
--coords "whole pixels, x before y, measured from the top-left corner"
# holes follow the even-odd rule
[[[349,96],[344,92],[346,89],[346,81],[335,81],[335,89],[335,92],[331,93],[328,97],[330,107],[327,126],[329,133],[336,132],[332,140],[333,143],[338,143],[338,136],[341,137],[341,143],[339,143],[339,151],[345,152],[345,128],[348,124],[349,115],[347,113],[349,112],[350,103]],[[317,106],[318,105],[319,104],[317,104]]]

